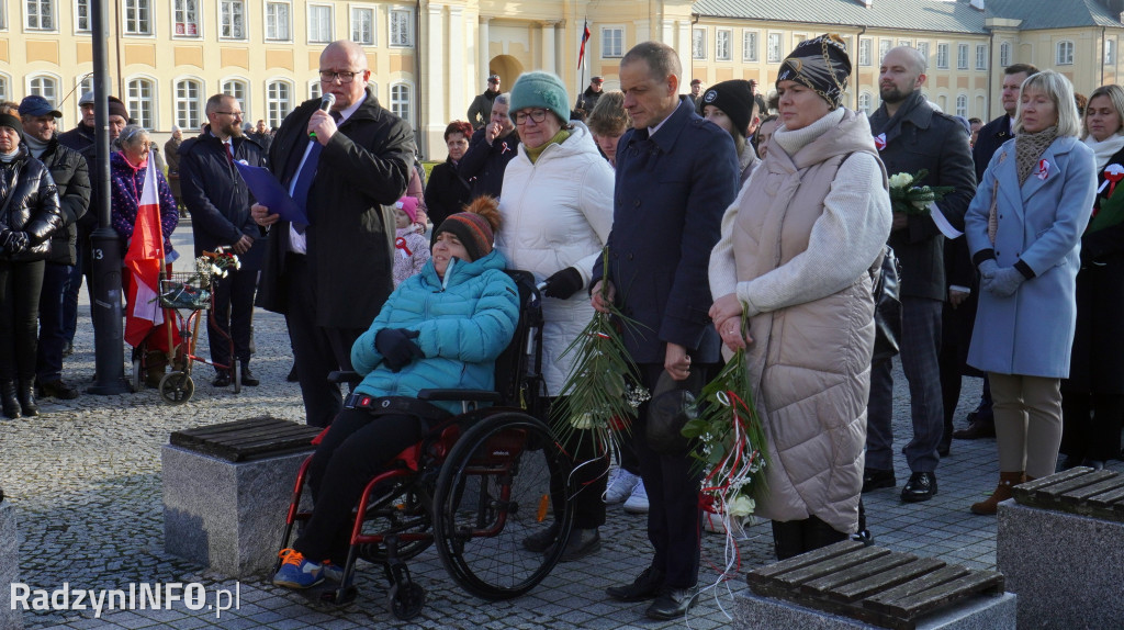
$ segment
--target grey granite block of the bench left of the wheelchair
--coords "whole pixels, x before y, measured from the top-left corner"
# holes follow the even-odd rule
[[[269,572],[297,471],[311,453],[233,463],[164,446],[165,550],[229,576]]]

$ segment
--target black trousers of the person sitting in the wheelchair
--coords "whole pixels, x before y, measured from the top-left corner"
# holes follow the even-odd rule
[[[308,469],[312,517],[293,549],[314,563],[330,559],[343,566],[347,560],[352,509],[363,489],[387,469],[392,457],[424,435],[424,422],[411,416],[341,411],[312,455]]]

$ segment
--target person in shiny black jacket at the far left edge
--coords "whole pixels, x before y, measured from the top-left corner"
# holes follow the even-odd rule
[[[51,172],[20,144],[24,125],[0,113],[0,401],[8,418],[38,416],[35,322],[51,235],[63,227]]]

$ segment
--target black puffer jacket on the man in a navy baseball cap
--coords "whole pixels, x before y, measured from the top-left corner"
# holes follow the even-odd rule
[[[65,229],[55,230],[51,235],[51,252],[48,263],[74,265],[78,254],[74,243],[78,239],[78,220],[85,216],[90,208],[90,167],[82,154],[60,144],[58,138],[51,138],[47,150],[39,161],[51,171],[51,179],[58,186],[58,207],[63,212]]]

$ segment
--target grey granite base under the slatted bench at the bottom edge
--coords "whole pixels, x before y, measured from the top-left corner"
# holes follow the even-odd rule
[[[733,628],[737,630],[854,630],[878,628],[815,609],[762,597],[752,591],[736,596]],[[1022,601],[1022,597],[1018,599]],[[1012,593],[999,596],[978,595],[955,606],[936,611],[917,622],[917,630],[1015,630],[1015,601]]]

